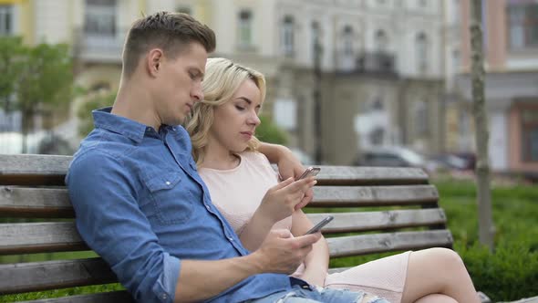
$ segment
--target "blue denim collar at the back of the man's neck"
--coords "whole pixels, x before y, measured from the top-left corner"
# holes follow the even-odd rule
[[[96,128],[119,133],[132,141],[140,143],[146,131],[152,130],[150,126],[141,124],[135,120],[110,113],[112,107],[93,110],[94,126]]]

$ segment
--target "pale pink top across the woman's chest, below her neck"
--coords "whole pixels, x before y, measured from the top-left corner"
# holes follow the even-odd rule
[[[231,170],[200,168],[198,172],[209,188],[212,203],[241,235],[267,190],[278,183],[278,174],[260,152],[243,151],[238,155],[241,162]],[[277,222],[273,228],[291,230],[292,217]]]

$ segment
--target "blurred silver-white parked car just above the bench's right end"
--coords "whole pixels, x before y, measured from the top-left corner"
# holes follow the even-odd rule
[[[401,146],[376,147],[362,151],[355,165],[388,166],[388,167],[420,167],[427,171],[435,171],[438,164],[431,162],[416,151]]]

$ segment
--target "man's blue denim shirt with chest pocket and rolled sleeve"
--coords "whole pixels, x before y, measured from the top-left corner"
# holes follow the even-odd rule
[[[95,129],[67,173],[78,232],[139,302],[171,302],[181,259],[245,256],[211,202],[182,127],[153,128],[94,110]],[[285,275],[244,279],[210,302],[263,298],[291,289]]]

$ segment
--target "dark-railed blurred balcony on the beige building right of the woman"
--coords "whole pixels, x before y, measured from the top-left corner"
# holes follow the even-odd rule
[[[396,56],[389,52],[336,53],[336,73],[397,76]]]

